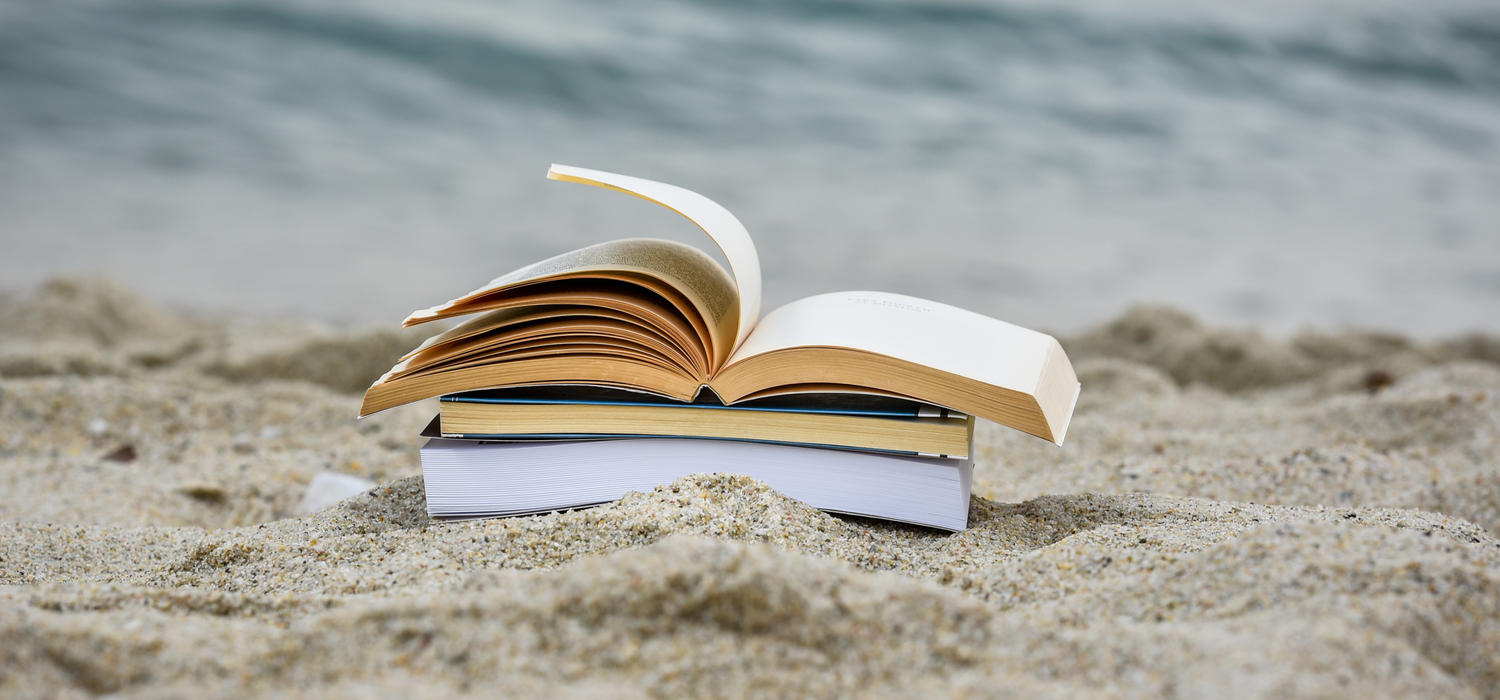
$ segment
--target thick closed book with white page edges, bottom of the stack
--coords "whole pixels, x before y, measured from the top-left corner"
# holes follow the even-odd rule
[[[422,448],[428,514],[522,516],[618,501],[688,474],[744,474],[814,508],[962,531],[974,462],[708,439],[476,442]]]

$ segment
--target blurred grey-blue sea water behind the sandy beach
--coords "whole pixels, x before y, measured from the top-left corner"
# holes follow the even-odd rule
[[[1492,0],[0,3],[0,291],[396,322],[699,240],[550,162],[729,207],[768,307],[1500,325]]]

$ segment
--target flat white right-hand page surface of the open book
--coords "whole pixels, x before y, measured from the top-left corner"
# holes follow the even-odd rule
[[[729,364],[788,348],[850,348],[1032,394],[1053,343],[1046,333],[916,297],[831,292],[768,313]]]

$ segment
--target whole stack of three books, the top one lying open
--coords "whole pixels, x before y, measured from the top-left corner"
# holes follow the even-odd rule
[[[975,418],[1062,444],[1078,381],[1058,342],[946,304],[832,292],[760,318],[744,226],[664,183],[554,165],[702,228],[729,262],[656,238],[564,253],[406,325],[470,316],[406,354],[360,415],[442,397],[422,469],[434,517],[615,501],[746,474],[813,507],[968,523]]]

